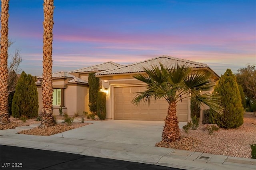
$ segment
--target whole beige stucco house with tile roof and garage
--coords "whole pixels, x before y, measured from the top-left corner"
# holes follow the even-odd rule
[[[103,63],[101,68],[100,65],[96,65],[84,69],[78,69],[66,73],[66,76],[72,75],[74,77],[69,76],[65,80],[64,77],[61,78],[67,87],[63,90],[64,92],[62,93],[66,93],[66,91],[68,91],[68,86],[81,87],[76,88],[76,90],[73,89],[74,91],[70,96],[64,94],[63,104],[67,109],[67,113],[73,115],[73,112],[76,113],[77,111],[82,112],[89,110],[87,83],[88,73],[96,72],[95,76],[99,77],[100,79],[100,89],[107,93],[106,119],[163,121],[166,117],[168,108],[168,103],[164,99],[158,100],[156,102],[152,101],[149,106],[148,103],[140,103],[138,106],[135,106],[131,103],[137,92],[141,92],[146,89],[146,84],[133,78],[133,75],[144,73],[143,67],[149,69],[152,65],[159,65],[159,63],[163,63],[166,66],[170,66],[174,63],[186,63],[193,70],[208,71],[212,73],[216,81],[219,79],[219,76],[204,63],[174,58],[166,55],[124,66],[113,62]],[[106,64],[112,64],[112,67],[103,67],[104,65],[106,66]],[[58,77],[58,79],[60,79],[60,77]],[[79,79],[79,82],[75,79]],[[53,80],[54,82],[59,82],[59,80],[57,81],[54,78]],[[81,82],[82,80],[84,82]],[[72,81],[72,84],[69,84],[70,81]],[[82,100],[81,102],[80,99]],[[69,102],[71,102],[72,105],[70,105]],[[83,107],[81,107],[81,105]],[[54,106],[54,108],[58,107]],[[203,114],[201,111],[200,121],[202,121],[202,115]],[[186,98],[182,100],[182,102],[177,103],[177,116],[178,121],[190,120],[189,98]]]

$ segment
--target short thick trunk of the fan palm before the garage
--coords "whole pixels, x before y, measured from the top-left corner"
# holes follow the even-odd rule
[[[176,103],[170,103],[168,106],[168,113],[162,133],[162,140],[165,142],[172,142],[180,138],[180,128],[178,117],[176,115],[176,107]]]

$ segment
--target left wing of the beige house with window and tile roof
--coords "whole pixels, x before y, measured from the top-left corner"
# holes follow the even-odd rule
[[[90,113],[88,75],[89,73],[96,73],[105,71],[107,69],[114,69],[122,65],[112,61],[86,67],[70,72],[60,71],[52,74],[53,86],[53,114],[59,114],[59,108],[62,106],[63,113],[74,115],[78,113],[82,115],[83,111]],[[37,77],[36,86],[38,89],[39,109],[38,113],[42,112],[42,76]]]

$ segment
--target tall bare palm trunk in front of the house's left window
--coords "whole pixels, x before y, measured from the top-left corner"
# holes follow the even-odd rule
[[[42,80],[42,122],[40,127],[54,125],[52,115],[52,28],[53,0],[44,0],[44,45],[43,45],[43,80]]]

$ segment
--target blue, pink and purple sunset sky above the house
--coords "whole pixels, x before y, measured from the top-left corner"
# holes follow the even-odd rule
[[[53,72],[160,55],[218,75],[256,64],[256,1],[54,0]],[[43,0],[10,0],[9,39],[20,68],[42,75]]]

